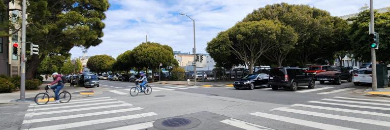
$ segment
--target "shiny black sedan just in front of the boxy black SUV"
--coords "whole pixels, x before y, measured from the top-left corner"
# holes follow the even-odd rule
[[[244,78],[234,82],[233,86],[236,89],[268,86],[269,76],[267,74],[249,74]]]

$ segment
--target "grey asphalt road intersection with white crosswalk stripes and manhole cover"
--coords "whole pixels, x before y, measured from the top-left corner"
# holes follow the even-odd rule
[[[0,106],[13,118],[0,129],[388,129],[390,100],[354,93],[367,86],[343,82],[298,91],[236,90],[149,84],[152,93],[131,96],[134,83],[101,81],[96,95],[66,104]],[[17,108],[17,109],[15,109]],[[10,109],[13,109],[11,111]],[[3,114],[8,110],[8,114]],[[14,116],[13,116],[14,115]],[[1,120],[6,120],[3,117]],[[0,121],[1,121],[0,120]],[[7,122],[7,121],[6,121]]]

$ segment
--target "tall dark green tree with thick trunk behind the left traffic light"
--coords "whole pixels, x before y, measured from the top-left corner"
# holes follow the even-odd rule
[[[30,0],[27,6],[26,40],[40,46],[39,55],[27,61],[31,79],[47,55],[69,56],[73,47],[85,50],[102,43],[107,0]]]

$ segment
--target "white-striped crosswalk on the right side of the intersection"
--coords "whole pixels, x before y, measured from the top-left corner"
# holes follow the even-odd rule
[[[271,122],[244,122],[237,119],[226,119],[221,122],[242,129],[276,129],[280,128],[278,124],[281,124],[281,127],[291,126],[284,129],[389,129],[389,106],[388,100],[335,96],[321,101],[309,101],[307,104],[249,113],[258,120]]]

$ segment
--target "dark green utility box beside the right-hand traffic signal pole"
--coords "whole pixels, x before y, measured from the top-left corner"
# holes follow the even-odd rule
[[[388,87],[388,72],[386,65],[376,64],[376,81],[378,88]]]

